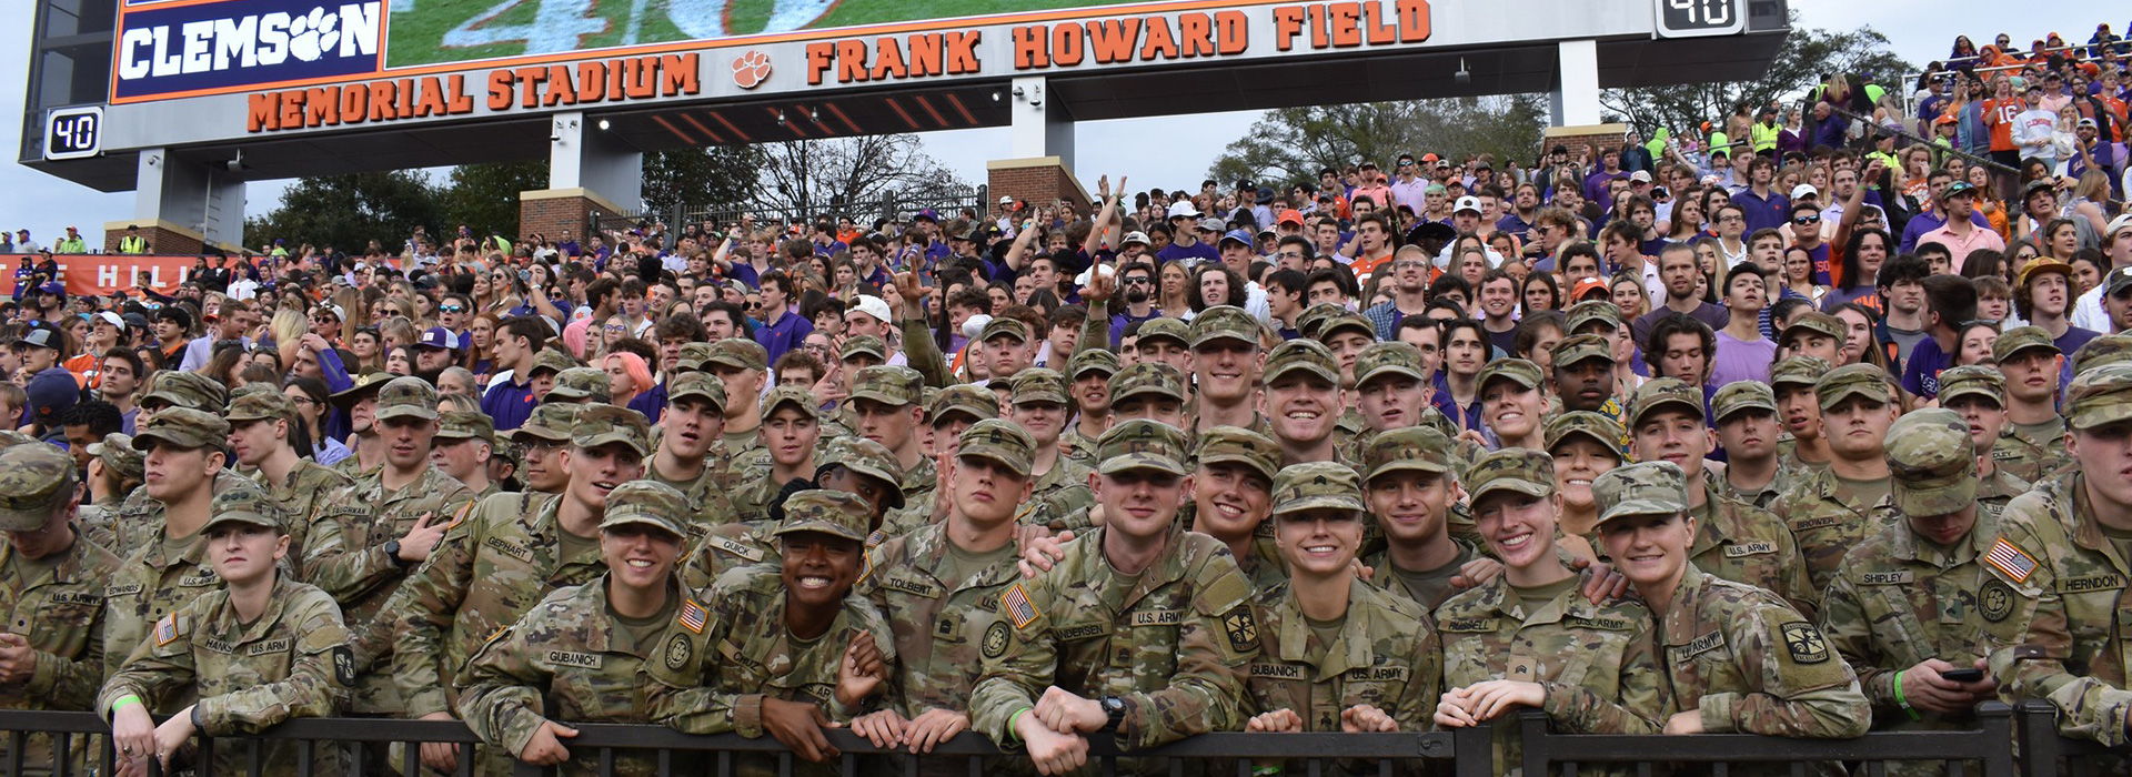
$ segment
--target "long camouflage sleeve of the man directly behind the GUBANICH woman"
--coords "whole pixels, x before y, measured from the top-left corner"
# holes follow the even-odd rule
[[[443,692],[446,641],[452,637],[458,605],[467,598],[467,585],[473,583],[473,553],[482,547],[486,526],[480,515],[469,513],[473,505],[456,513],[437,549],[407,575],[407,581],[392,592],[392,602],[382,609],[399,619],[392,632],[392,683],[407,702],[407,717],[452,711]]]

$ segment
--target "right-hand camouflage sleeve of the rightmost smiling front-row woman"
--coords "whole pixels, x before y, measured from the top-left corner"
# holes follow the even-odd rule
[[[1767,737],[1851,739],[1872,726],[1857,675],[1814,624],[1778,602],[1742,602],[1725,624],[1746,692],[1703,694],[1703,730]]]

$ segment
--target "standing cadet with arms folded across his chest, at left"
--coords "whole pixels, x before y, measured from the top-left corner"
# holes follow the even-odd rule
[[[369,666],[348,711],[401,715],[405,700],[390,677],[397,613],[386,600],[416,564],[429,560],[450,522],[473,507],[473,492],[431,462],[437,434],[437,390],[418,377],[397,377],[377,392],[377,434],[386,466],[352,485],[328,509],[305,547],[303,575],[341,602]]]

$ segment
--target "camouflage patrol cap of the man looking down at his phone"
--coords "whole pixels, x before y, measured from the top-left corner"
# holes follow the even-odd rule
[[[1959,513],[1976,502],[1976,447],[1970,421],[1938,407],[1917,409],[1887,428],[1889,496],[1904,515]]]

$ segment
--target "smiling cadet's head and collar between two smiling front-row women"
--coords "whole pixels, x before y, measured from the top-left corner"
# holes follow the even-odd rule
[[[1458,492],[1450,449],[1452,441],[1431,426],[1390,430],[1362,447],[1362,494],[1386,543],[1362,566],[1371,583],[1422,611],[1450,600],[1458,577],[1477,573],[1471,564],[1495,564],[1450,530]]]

